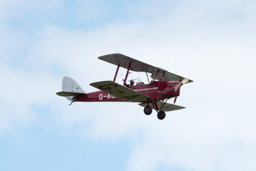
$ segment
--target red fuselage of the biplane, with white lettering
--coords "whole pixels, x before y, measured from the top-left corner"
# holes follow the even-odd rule
[[[133,86],[129,86],[130,89],[144,94],[154,100],[164,100],[167,98],[173,98],[180,95],[180,87],[175,91],[175,85],[180,84],[177,81],[154,81],[150,84],[138,83]],[[124,101],[115,96],[105,93],[104,91],[95,91],[92,93],[86,93],[83,96],[76,96],[74,101]],[[140,101],[138,101],[140,102]]]

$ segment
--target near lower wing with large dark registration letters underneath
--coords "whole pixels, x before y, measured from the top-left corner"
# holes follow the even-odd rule
[[[153,99],[145,96],[141,93],[133,91],[123,85],[117,84],[113,81],[102,81],[102,82],[93,82],[93,87],[100,89],[106,93],[109,93],[116,98],[120,98],[124,101],[131,101],[131,102],[147,102],[148,100],[152,101]]]

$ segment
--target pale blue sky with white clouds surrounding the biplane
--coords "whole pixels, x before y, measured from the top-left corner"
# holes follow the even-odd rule
[[[0,170],[255,170],[255,1],[0,1]],[[121,53],[194,80],[184,110],[73,103]],[[122,76],[122,75],[121,75]],[[122,78],[120,78],[122,79]],[[172,103],[173,101],[169,101]]]

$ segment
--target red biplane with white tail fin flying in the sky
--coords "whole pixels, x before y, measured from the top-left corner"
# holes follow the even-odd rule
[[[122,54],[109,54],[98,58],[117,66],[113,81],[93,82],[90,85],[99,89],[99,91],[85,93],[75,80],[70,77],[64,77],[62,80],[62,91],[56,94],[70,100],[70,105],[75,101],[139,102],[139,105],[144,107],[146,115],[150,115],[152,109],[154,109],[160,120],[164,119],[165,112],[185,108],[175,105],[175,102],[180,95],[180,87],[183,84],[193,82],[192,80]],[[120,67],[127,70],[123,79],[123,85],[115,82]],[[148,84],[138,82],[134,85],[134,81],[131,81],[131,84],[126,84],[129,71],[145,72]],[[148,74],[150,74],[150,78],[148,78]],[[174,98],[173,104],[166,103],[170,98]]]

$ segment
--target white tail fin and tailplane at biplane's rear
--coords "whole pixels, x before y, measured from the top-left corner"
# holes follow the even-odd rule
[[[70,77],[64,77],[62,80],[62,91],[56,93],[59,96],[64,96],[72,101],[74,96],[86,94],[81,86]]]

